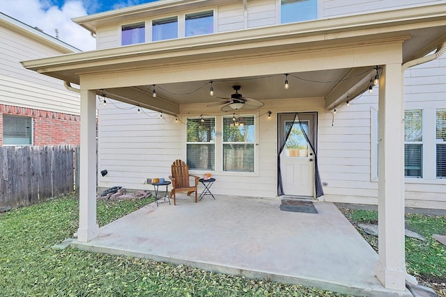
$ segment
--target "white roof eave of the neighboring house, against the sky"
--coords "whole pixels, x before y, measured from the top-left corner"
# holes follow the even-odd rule
[[[81,51],[80,49],[77,49],[72,45],[68,45],[68,43],[66,42],[48,35],[37,27],[31,27],[24,22],[20,22],[19,20],[10,17],[9,15],[5,15],[4,13],[0,13],[0,24],[1,26],[5,26],[11,30],[19,32],[22,35],[27,35],[29,38],[33,38],[35,40],[38,40],[39,42],[45,43],[49,47],[54,47],[55,49],[61,51],[61,53],[69,54],[72,52]]]

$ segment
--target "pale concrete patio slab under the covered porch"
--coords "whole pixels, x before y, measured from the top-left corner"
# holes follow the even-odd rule
[[[279,209],[280,200],[216,196],[149,204],[72,246],[269,278],[356,296],[412,296],[375,277],[378,255],[332,203],[318,214]]]

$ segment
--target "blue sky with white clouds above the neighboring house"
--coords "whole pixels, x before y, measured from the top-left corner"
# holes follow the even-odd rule
[[[63,42],[91,51],[95,49],[95,39],[72,18],[152,1],[155,0],[0,0],[0,11],[53,37],[57,29]]]

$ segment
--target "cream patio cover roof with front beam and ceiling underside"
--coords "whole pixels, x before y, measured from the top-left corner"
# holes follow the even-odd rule
[[[283,82],[284,73],[290,73],[299,78],[294,82],[300,90],[295,97],[324,97],[325,107],[329,109],[354,84],[368,81],[373,74],[371,65],[387,63],[371,49],[385,53],[384,45],[398,44],[402,48],[401,63],[405,63],[428,54],[445,40],[446,4],[440,3],[101,49],[26,61],[23,65],[72,83],[80,83],[80,77],[84,77],[84,88],[113,89],[123,102],[171,113],[177,113],[180,104],[208,102],[205,96],[208,88],[200,86],[210,79],[220,83],[221,89],[227,90],[226,95],[231,93],[231,86],[243,81],[241,93],[247,97],[289,98],[290,93],[284,93]],[[351,52],[350,58],[337,61],[337,53],[347,51]],[[271,65],[275,67],[266,65],[272,59]],[[398,61],[398,57],[392,59]],[[140,75],[131,80],[113,80],[116,75],[136,72]],[[98,76],[104,77],[101,86],[93,83],[93,78]],[[324,83],[307,86],[318,81]],[[167,103],[157,105],[125,99],[140,97],[137,94],[144,93],[153,84],[163,86],[164,90],[175,90],[157,90]],[[194,88],[200,89],[187,94],[186,90]]]

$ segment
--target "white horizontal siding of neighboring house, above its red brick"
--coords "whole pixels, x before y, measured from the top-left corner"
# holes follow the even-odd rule
[[[1,103],[79,115],[77,93],[66,90],[63,81],[26,70],[20,64],[63,53],[3,26],[0,35]]]

